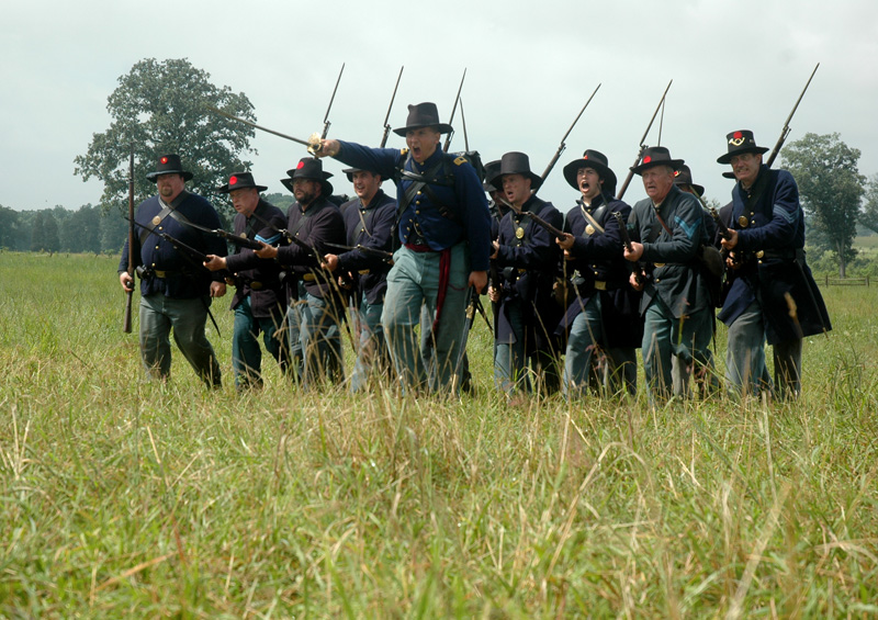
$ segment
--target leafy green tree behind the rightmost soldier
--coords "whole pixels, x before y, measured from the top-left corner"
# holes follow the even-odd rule
[[[802,207],[837,257],[838,275],[844,278],[845,266],[857,253],[854,237],[866,182],[857,170],[859,149],[848,147],[837,133],[809,133],[787,146],[784,160],[796,177]]]

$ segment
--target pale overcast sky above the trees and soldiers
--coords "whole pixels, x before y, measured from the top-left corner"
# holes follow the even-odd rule
[[[374,146],[402,65],[393,127],[420,101],[447,120],[466,68],[470,148],[484,161],[522,150],[537,173],[601,83],[540,190],[564,211],[577,193],[563,166],[597,149],[621,183],[671,79],[662,145],[689,164],[707,198],[727,202],[731,181],[716,162],[725,134],[750,128],[774,146],[820,63],[788,144],[838,132],[860,149],[859,171],[878,172],[875,0],[30,0],[5,3],[0,33],[0,205],[15,210],[99,202],[100,182],[75,177],[74,158],[108,128],[108,97],[143,58],[188,58],[215,86],[245,93],[259,124],[301,137],[322,128],[346,63],[329,135]],[[453,125],[452,150],[461,150],[460,113]],[[648,144],[657,129],[656,121]],[[389,146],[403,142],[391,134]],[[243,158],[257,182],[285,192],[279,179],[304,148],[261,132],[251,146],[258,155]],[[338,177],[342,166],[326,168]],[[643,196],[638,182],[626,200]]]

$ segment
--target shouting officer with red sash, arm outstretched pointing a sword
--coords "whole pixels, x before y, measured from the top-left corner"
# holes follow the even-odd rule
[[[436,104],[425,102],[409,105],[406,125],[394,129],[408,148],[328,139],[317,150],[319,157],[396,182],[402,247],[387,274],[382,323],[403,386],[439,393],[449,393],[455,376],[469,291],[485,288],[491,249],[491,216],[475,169],[439,147],[441,134],[450,131],[439,121]],[[421,306],[428,311],[421,334],[429,354],[415,332]]]

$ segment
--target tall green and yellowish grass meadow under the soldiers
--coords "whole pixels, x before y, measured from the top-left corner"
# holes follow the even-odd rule
[[[145,382],[116,261],[0,252],[2,618],[878,616],[876,288],[795,404],[510,407],[481,320],[474,397],[239,396],[229,296]]]

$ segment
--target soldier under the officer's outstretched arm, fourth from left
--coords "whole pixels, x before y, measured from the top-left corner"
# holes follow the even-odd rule
[[[347,244],[353,249],[326,255],[324,268],[351,274],[356,306],[352,318],[360,349],[350,379],[350,388],[351,392],[357,392],[367,383],[373,368],[381,375],[386,375],[391,368],[390,351],[381,325],[391,264],[380,256],[365,253],[367,250],[357,248],[362,246],[390,252],[396,201],[381,189],[384,180],[381,174],[357,168],[348,168],[344,172],[353,183],[357,194],[354,200],[341,205]]]

